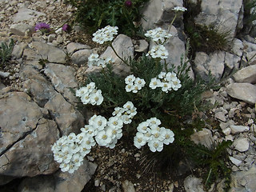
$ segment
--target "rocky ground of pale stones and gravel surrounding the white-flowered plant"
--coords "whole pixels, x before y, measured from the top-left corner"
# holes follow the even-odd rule
[[[142,22],[146,30],[154,28],[155,23],[166,27],[170,22],[166,18],[171,20],[173,15],[171,8],[183,5],[178,0],[165,0],[161,5],[154,2],[150,1],[143,12],[149,21]],[[204,94],[214,108],[202,116],[216,122],[218,129],[209,125],[191,139],[205,146],[233,141],[228,150],[230,162],[226,162],[233,171],[230,191],[256,191],[255,37],[237,38],[237,31],[242,29],[242,0],[216,3],[202,1],[196,22],[209,25],[213,20],[218,24],[223,17],[232,18],[223,25],[233,31],[231,48],[211,54],[197,52],[191,75],[207,78],[210,69],[221,80],[226,71],[239,70],[222,82],[219,90]],[[74,26],[70,33],[59,30],[74,12],[62,1],[0,0],[0,10],[0,42],[10,38],[15,42],[10,62],[0,71],[1,191],[206,191],[200,174],[194,174],[198,171],[181,166],[180,174],[159,176],[147,169],[142,152],[131,147],[133,143],[125,137],[114,150],[95,147],[75,174],[58,170],[50,146],[62,135],[78,133],[90,118],[89,111],[77,110],[78,100],[70,91],[78,89],[87,73],[98,70],[87,68],[89,55],[96,51],[111,55],[117,73],[126,73],[127,69],[113,52],[92,42],[81,27]],[[182,19],[174,23],[174,38],[166,43],[169,62],[179,63],[180,54],[185,52]],[[49,23],[54,33],[34,32],[38,22]],[[148,46],[145,40],[135,42],[122,34],[114,40],[119,54],[132,57],[134,51],[141,53]],[[222,181],[209,191],[223,191]]]

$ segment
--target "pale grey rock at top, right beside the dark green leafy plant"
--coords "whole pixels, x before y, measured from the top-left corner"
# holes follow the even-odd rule
[[[162,23],[171,22],[174,18],[174,6],[183,6],[182,0],[150,0],[142,10],[142,27],[144,30],[154,29]],[[154,14],[152,14],[154,13]],[[178,15],[176,22],[182,20],[182,14]]]

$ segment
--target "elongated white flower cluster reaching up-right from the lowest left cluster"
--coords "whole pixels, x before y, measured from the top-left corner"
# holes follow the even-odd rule
[[[123,124],[129,124],[137,108],[132,102],[126,102],[123,107],[115,107],[113,117],[106,118],[101,115],[94,115],[89,120],[89,125],[82,128],[82,132],[95,137],[99,146],[106,146],[113,149],[119,138],[122,138]]]

